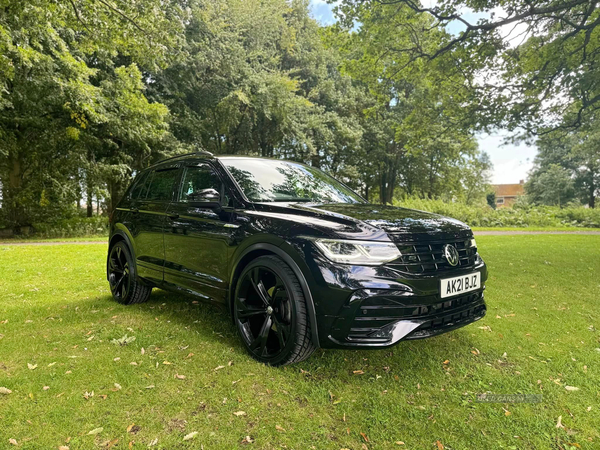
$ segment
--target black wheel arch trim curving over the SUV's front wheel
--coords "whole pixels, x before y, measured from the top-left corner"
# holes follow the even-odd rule
[[[310,290],[310,286],[306,280],[306,276],[304,272],[300,268],[299,264],[294,260],[294,258],[286,252],[282,245],[285,244],[284,240],[281,240],[280,245],[275,245],[272,243],[260,242],[252,244],[246,247],[235,259],[235,263],[233,264],[233,269],[231,270],[231,276],[229,280],[229,296],[227,301],[227,307],[229,309],[229,313],[231,315],[231,319],[233,320],[233,301],[235,297],[235,288],[237,284],[237,280],[244,270],[244,267],[248,265],[252,260],[258,258],[259,256],[264,255],[275,255],[280,257],[285,261],[285,263],[292,269],[294,275],[298,278],[300,282],[300,287],[302,288],[302,293],[304,294],[304,298],[306,299],[306,309],[308,311],[308,318],[310,320],[310,331],[311,338],[313,344],[318,348],[319,345],[319,332],[317,328],[317,314],[315,311],[315,304],[312,297],[312,292]]]

